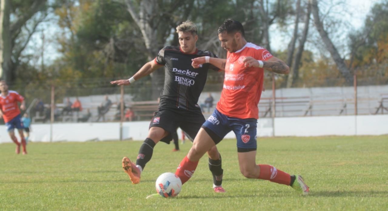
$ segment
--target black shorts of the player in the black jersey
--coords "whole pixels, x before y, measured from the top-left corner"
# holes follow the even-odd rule
[[[197,136],[197,133],[204,122],[205,118],[200,110],[194,112],[180,109],[159,110],[154,113],[149,128],[161,127],[167,132],[170,132],[170,134],[160,140],[170,144],[172,134],[177,132],[178,127],[183,130],[190,141],[194,141],[194,138]]]

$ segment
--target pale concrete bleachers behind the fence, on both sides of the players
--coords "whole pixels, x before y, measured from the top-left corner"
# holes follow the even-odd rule
[[[208,118],[217,102],[220,99],[219,92],[203,92],[199,96],[198,105],[204,103],[208,94],[213,96],[213,108],[210,112],[204,112],[204,117]],[[277,89],[275,91],[275,116],[276,117],[296,117],[296,116],[328,116],[328,115],[353,115],[355,114],[355,99],[353,87],[311,87],[311,88],[288,88]],[[95,122],[98,117],[97,107],[104,101],[105,95],[81,96],[83,111],[73,112],[72,115],[63,116],[61,122],[76,122],[77,117],[81,117],[89,108],[92,113],[91,122]],[[105,115],[105,121],[115,121],[117,105],[120,105],[120,94],[108,95],[113,105]],[[76,97],[69,97],[74,102]],[[158,109],[157,101],[133,101],[130,94],[124,95],[126,108],[132,107],[135,113],[134,120],[150,120],[153,113]],[[66,102],[66,98],[63,99]],[[267,89],[262,92],[259,108],[259,117],[272,117],[272,90]],[[62,111],[64,103],[56,106]],[[388,113],[388,86],[359,86],[357,87],[357,114],[373,115]],[[34,119],[35,118],[35,119]],[[40,121],[42,116],[33,117],[33,120]],[[102,121],[100,119],[99,121]]]

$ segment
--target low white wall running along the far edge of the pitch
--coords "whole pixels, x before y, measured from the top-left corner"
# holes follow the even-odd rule
[[[356,122],[357,120],[357,122]],[[388,134],[388,115],[282,117],[275,118],[275,136],[353,136]],[[120,139],[120,123],[53,124],[53,141],[102,141]],[[124,122],[123,139],[142,141],[148,134],[149,121]],[[257,136],[272,136],[272,119],[261,118]],[[180,134],[180,129],[178,129]],[[235,138],[230,132],[225,138]],[[50,124],[33,124],[31,141],[50,141]],[[5,125],[0,125],[0,143],[12,142]]]

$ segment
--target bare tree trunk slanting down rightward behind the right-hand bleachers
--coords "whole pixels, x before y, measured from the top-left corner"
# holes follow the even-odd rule
[[[315,27],[319,32],[320,38],[322,39],[323,43],[326,46],[327,51],[329,51],[331,57],[336,63],[338,70],[341,72],[341,75],[345,78],[347,84],[349,85],[353,84],[353,76],[352,74],[350,74],[350,70],[346,66],[344,59],[341,58],[340,54],[338,53],[338,50],[336,49],[333,42],[329,38],[329,35],[324,29],[322,21],[320,20],[317,0],[309,0],[309,1],[311,1],[310,3],[312,4],[312,14],[314,16],[314,23],[315,23]]]

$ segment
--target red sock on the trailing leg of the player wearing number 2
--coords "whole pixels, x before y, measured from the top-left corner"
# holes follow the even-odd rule
[[[276,182],[279,184],[290,185],[291,176],[282,172],[281,170],[277,170],[274,166],[271,165],[258,165],[260,167],[260,175],[259,179],[269,180],[271,182]]]

